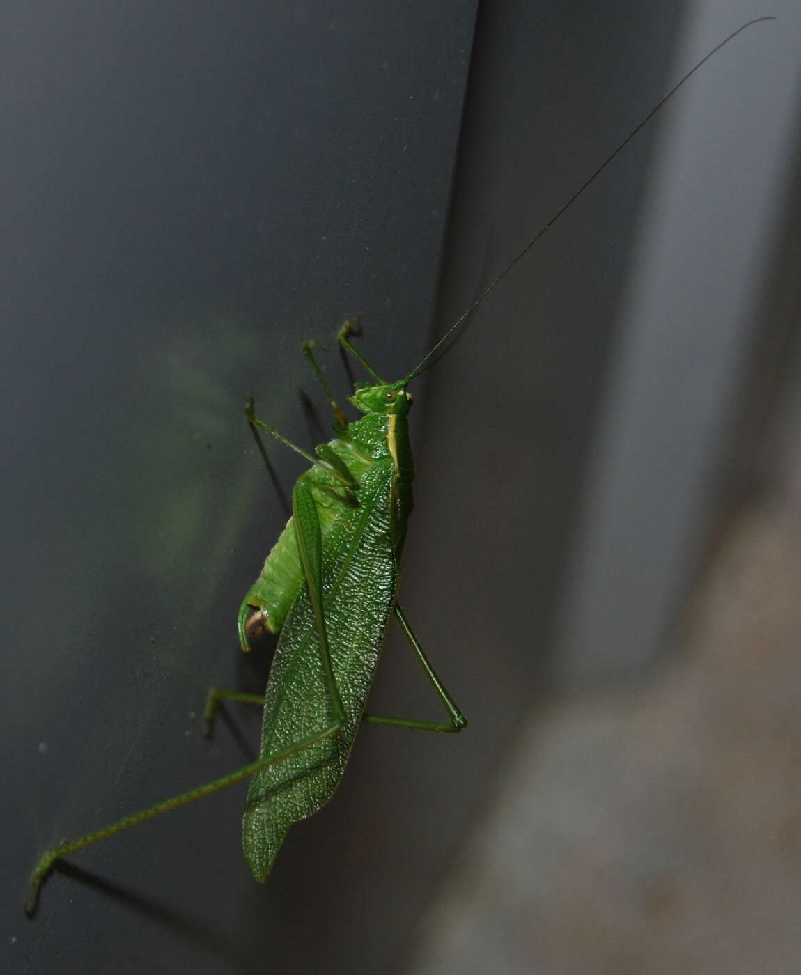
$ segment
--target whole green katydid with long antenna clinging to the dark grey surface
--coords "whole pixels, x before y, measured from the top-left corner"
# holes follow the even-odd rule
[[[371,382],[357,383],[350,397],[352,406],[363,414],[359,419],[346,421],[317,363],[314,344],[306,343],[303,353],[334,412],[335,436],[328,444],[317,447],[314,454],[307,453],[261,419],[253,399],[249,401],[247,419],[257,438],[264,431],[311,464],[293,490],[292,518],[238,613],[242,649],[247,650],[249,638],[260,631],[280,635],[265,694],[217,689],[210,692],[206,706],[209,727],[222,699],[262,706],[259,759],[44,853],[30,878],[25,903],[28,914],[35,910],[41,884],[60,858],[246,778],[251,782],[244,848],[254,876],[263,880],[292,825],[331,798],[362,722],[435,732],[458,732],[465,726],[461,711],[429,663],[397,600],[399,565],[413,504],[414,466],[407,421],[412,396],[407,387],[664,102],[715,52],[758,20],[742,25],[673,86],[403,378],[384,380],[354,348],[350,338],[355,323],[346,322],[338,336],[340,346],[372,377]],[[441,700],[447,722],[365,712],[391,616]]]

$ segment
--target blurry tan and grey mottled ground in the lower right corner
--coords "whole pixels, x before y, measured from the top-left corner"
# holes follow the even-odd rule
[[[410,975],[801,972],[801,448],[731,523],[676,650],[551,703]]]

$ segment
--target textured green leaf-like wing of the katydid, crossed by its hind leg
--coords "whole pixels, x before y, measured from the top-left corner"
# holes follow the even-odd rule
[[[292,825],[333,795],[359,728],[395,603],[393,477],[390,458],[375,461],[361,479],[358,506],[343,506],[326,536],[322,553],[325,632],[344,718],[336,734],[268,765],[252,780],[243,845],[258,880],[269,874]],[[292,748],[334,720],[319,628],[304,584],[276,647],[264,697],[260,758]]]

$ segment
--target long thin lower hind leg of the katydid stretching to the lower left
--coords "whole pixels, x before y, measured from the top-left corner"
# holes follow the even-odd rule
[[[226,786],[233,785],[236,782],[240,782],[242,779],[246,779],[249,776],[254,775],[267,765],[277,764],[279,761],[284,761],[285,759],[290,758],[290,756],[295,755],[296,752],[300,752],[304,748],[310,748],[312,745],[316,745],[318,742],[321,742],[326,738],[330,738],[331,735],[336,734],[337,731],[340,730],[340,727],[341,723],[339,721],[334,722],[323,731],[320,731],[318,734],[304,738],[296,745],[292,745],[289,748],[284,749],[277,755],[272,755],[267,759],[260,759],[259,761],[252,761],[250,764],[243,765],[241,768],[237,768],[236,771],[229,772],[227,775],[223,775],[219,779],[214,779],[212,782],[207,782],[205,785],[198,786],[196,789],[190,789],[188,792],[181,793],[180,796],[173,797],[173,799],[168,799],[164,802],[158,802],[156,805],[148,806],[146,809],[142,809],[140,812],[135,812],[131,816],[126,816],[124,819],[118,819],[115,823],[111,823],[109,826],[105,826],[101,830],[96,830],[94,833],[88,833],[86,836],[79,837],[78,839],[69,839],[66,842],[61,843],[59,846],[48,850],[46,853],[42,854],[39,862],[36,864],[36,867],[33,869],[33,872],[30,875],[29,895],[24,903],[25,913],[28,915],[28,917],[32,917],[35,913],[42,883],[53,869],[53,865],[57,860],[68,856],[70,853],[74,853],[76,850],[83,849],[85,846],[90,846],[92,843],[96,843],[100,839],[108,839],[117,833],[122,833],[123,830],[130,830],[134,826],[139,826],[140,823],[143,823],[148,819],[153,819],[155,816],[159,816],[164,812],[169,812],[171,809],[177,809],[180,805],[186,805],[187,802],[194,802],[195,800],[203,799],[204,796],[209,796],[212,793],[219,792],[220,789],[224,789]]]

